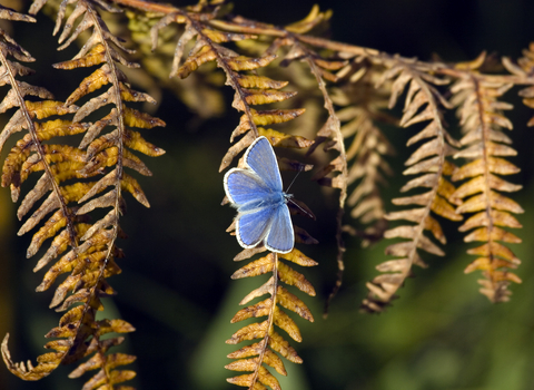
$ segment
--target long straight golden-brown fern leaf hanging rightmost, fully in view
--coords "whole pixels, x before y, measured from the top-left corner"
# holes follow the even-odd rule
[[[511,214],[523,213],[523,208],[501,192],[516,192],[521,185],[506,182],[497,175],[512,175],[520,169],[503,157],[517,153],[510,145],[512,140],[502,129],[512,129],[512,123],[502,114],[513,106],[497,99],[510,88],[511,84],[498,81],[495,77],[484,77],[475,71],[464,72],[452,87],[452,103],[458,106],[458,116],[464,136],[464,148],[454,158],[466,158],[467,163],[453,174],[453,181],[464,181],[449,196],[454,203],[463,199],[456,213],[475,213],[459,227],[461,232],[472,231],[465,242],[484,244],[467,251],[477,256],[465,273],[482,271],[479,290],[492,302],[506,302],[511,292],[510,282],[521,283],[521,279],[510,272],[521,261],[503,243],[521,243],[515,234],[503,227],[522,227]],[[458,202],[459,204],[459,202]],[[502,227],[501,227],[502,226]]]

